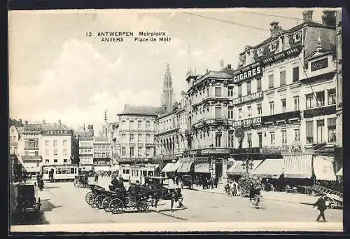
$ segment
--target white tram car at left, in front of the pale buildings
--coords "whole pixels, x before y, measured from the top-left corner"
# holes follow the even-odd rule
[[[76,164],[43,165],[41,174],[45,181],[74,182],[76,176],[84,172],[84,168]]]

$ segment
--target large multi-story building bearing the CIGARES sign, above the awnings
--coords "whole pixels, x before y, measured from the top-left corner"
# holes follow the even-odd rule
[[[318,149],[318,142],[336,140],[325,137],[325,121],[335,127],[335,17],[324,11],[320,24],[312,13],[304,11],[304,22],[288,30],[272,22],[269,38],[239,55],[231,73],[237,95],[233,125],[244,137],[235,140],[235,159],[281,158],[295,144]],[[318,113],[309,110],[314,107]]]

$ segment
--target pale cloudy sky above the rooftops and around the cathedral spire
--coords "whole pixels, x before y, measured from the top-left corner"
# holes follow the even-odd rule
[[[160,107],[167,63],[180,100],[188,68],[217,71],[221,60],[236,68],[245,46],[269,37],[270,22],[289,29],[302,23],[304,10],[310,9],[10,11],[10,118],[99,130],[105,110],[115,122],[124,104]],[[325,9],[313,10],[321,22]],[[134,36],[107,43],[97,36],[105,31]],[[171,41],[134,41],[139,31],[162,31]]]

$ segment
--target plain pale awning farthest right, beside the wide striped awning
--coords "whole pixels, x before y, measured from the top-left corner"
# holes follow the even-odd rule
[[[329,157],[314,157],[314,174],[317,180],[336,180],[335,172],[333,170],[333,164]]]

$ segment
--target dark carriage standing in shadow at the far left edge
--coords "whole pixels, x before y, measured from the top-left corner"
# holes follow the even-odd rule
[[[38,197],[38,190],[34,183],[17,185],[17,207],[15,212],[26,213],[40,211],[41,201]]]

